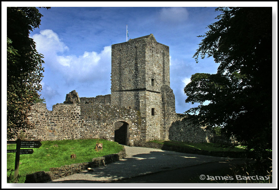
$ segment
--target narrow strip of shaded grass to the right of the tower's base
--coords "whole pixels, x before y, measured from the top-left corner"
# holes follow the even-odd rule
[[[178,146],[184,148],[192,148],[198,150],[208,150],[208,151],[244,151],[245,148],[237,146],[234,148],[229,147],[221,147],[219,144],[215,143],[188,143],[188,142],[180,142],[180,141],[164,141],[164,140],[151,140],[149,142],[157,143],[157,144],[165,144],[167,146]]]

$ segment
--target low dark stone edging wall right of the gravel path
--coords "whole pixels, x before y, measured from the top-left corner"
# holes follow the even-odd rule
[[[146,147],[146,148],[159,148],[162,150],[170,150],[174,152],[183,152],[189,154],[200,154],[206,156],[216,156],[216,157],[232,157],[232,158],[246,158],[250,157],[250,152],[235,152],[235,151],[208,151],[208,150],[198,150],[195,148],[184,148],[178,146],[167,146],[164,144],[157,144],[151,142],[141,142],[137,143],[136,147]]]

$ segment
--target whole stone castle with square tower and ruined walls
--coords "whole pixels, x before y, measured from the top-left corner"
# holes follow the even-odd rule
[[[113,44],[111,70],[109,95],[86,98],[72,91],[53,111],[34,104],[29,120],[35,127],[27,138],[103,138],[129,146],[153,139],[209,142],[210,131],[175,113],[169,46],[153,34]]]

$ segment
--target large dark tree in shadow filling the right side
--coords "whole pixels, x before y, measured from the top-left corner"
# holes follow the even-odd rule
[[[272,149],[272,8],[219,7],[194,54],[213,56],[216,74],[196,73],[184,88],[185,113],[201,126],[222,126],[222,132],[254,149],[259,156]],[[210,104],[203,105],[208,100]],[[190,113],[195,113],[190,115]]]

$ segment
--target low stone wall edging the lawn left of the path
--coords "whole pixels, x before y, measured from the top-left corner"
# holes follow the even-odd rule
[[[53,179],[63,178],[69,175],[77,174],[88,168],[95,168],[107,165],[126,157],[125,148],[117,154],[109,154],[102,157],[93,158],[91,162],[65,165],[58,168],[50,168],[50,171],[38,171],[26,175],[24,183],[45,183]]]

